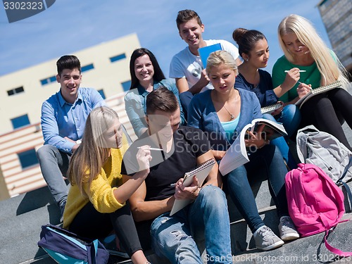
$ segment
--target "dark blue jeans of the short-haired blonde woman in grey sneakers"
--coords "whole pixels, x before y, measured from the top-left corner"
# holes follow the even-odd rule
[[[287,168],[275,145],[267,145],[250,153],[249,163],[241,165],[225,175],[231,199],[253,233],[263,226],[264,222],[259,216],[249,178],[256,180],[258,175],[263,174],[268,177],[269,191],[277,207],[279,217],[289,215],[284,185]]]

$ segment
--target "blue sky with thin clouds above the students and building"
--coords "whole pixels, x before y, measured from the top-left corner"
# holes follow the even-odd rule
[[[296,13],[313,22],[331,46],[316,5],[320,0],[56,0],[46,11],[8,23],[0,6],[0,75],[136,32],[143,47],[156,55],[165,75],[174,54],[184,48],[175,23],[177,11],[193,9],[205,25],[204,39],[234,43],[237,27],[263,32],[270,46],[268,70],[282,51],[277,25]]]

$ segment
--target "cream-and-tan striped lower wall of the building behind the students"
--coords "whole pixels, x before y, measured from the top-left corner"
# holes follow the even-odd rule
[[[124,96],[125,92],[121,92],[105,101],[118,113],[120,122],[134,141],[137,136],[134,134],[125,111]],[[0,201],[46,185],[39,163],[35,158],[35,151],[43,144],[44,139],[39,122],[0,135]],[[22,154],[28,151],[32,152],[29,156],[23,157]],[[33,163],[28,164],[28,160]]]

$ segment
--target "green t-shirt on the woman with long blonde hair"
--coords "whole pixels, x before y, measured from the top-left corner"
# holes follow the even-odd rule
[[[294,65],[293,63],[290,63],[285,56],[279,58],[276,61],[274,67],[272,68],[273,87],[278,87],[280,84],[282,84],[282,82],[284,82],[287,74],[284,71],[291,70],[291,68],[299,68],[300,70],[306,70],[305,73],[300,73],[299,82],[311,84],[313,89],[320,87],[321,75],[318,70],[317,63],[313,63],[309,66]],[[279,100],[283,101],[284,103],[287,103],[288,101],[295,99],[298,96],[296,89],[298,85],[299,84],[296,83],[296,85],[292,87],[289,92],[281,96]]]

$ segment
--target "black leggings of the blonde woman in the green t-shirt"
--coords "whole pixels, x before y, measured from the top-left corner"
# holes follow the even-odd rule
[[[317,94],[301,107],[301,127],[314,125],[318,130],[332,134],[351,149],[341,127],[346,120],[352,128],[352,96],[345,89],[332,89],[324,94]]]

